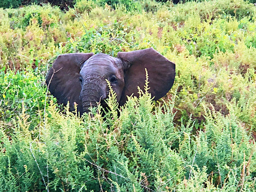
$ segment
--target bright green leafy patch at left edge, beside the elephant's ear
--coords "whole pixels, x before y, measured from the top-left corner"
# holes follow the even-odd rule
[[[36,116],[35,111],[43,110],[46,102],[46,89],[42,77],[28,71],[0,72],[0,119],[12,119],[21,111]]]

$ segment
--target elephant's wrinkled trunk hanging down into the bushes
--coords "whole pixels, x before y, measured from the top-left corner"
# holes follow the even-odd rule
[[[105,93],[102,90],[101,85],[95,84],[96,81],[92,81],[91,83],[90,81],[86,82],[87,83],[82,87],[80,94],[84,113],[90,112],[90,107],[97,107],[97,102],[105,99]]]

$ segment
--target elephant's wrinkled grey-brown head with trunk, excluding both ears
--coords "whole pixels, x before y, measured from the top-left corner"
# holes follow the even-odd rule
[[[79,77],[82,87],[79,99],[82,101],[84,112],[89,112],[88,107],[96,107],[97,102],[102,102],[107,98],[106,79],[111,83],[119,102],[125,84],[123,77],[122,61],[119,58],[99,53],[85,61]]]

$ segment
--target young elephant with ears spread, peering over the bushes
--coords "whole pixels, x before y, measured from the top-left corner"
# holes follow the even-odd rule
[[[175,78],[175,64],[153,48],[119,52],[117,58],[99,53],[69,53],[59,55],[50,68],[46,83],[59,103],[67,101],[73,110],[78,104],[80,114],[88,113],[97,102],[104,104],[110,81],[120,105],[126,96],[138,96],[139,86],[144,89],[145,68],[149,76],[149,93],[160,99],[171,89]]]

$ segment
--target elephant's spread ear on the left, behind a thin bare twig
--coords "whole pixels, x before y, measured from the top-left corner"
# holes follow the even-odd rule
[[[67,105],[67,101],[69,101],[71,110],[73,110],[74,102],[76,102],[80,114],[83,112],[79,99],[81,92],[80,66],[91,56],[93,53],[59,55],[46,76],[49,91],[57,98],[58,102]]]

